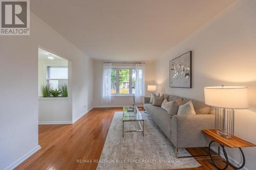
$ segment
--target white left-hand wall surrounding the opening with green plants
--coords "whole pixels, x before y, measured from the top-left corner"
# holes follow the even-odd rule
[[[30,26],[30,36],[0,36],[0,169],[15,167],[39,149],[38,45],[73,62],[73,119],[84,105],[93,106],[92,59],[32,12]]]

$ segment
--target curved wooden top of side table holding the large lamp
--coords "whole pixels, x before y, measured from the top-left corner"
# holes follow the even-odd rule
[[[202,132],[206,134],[208,137],[210,137],[212,140],[218,142],[219,144],[224,145],[225,147],[229,147],[229,148],[256,147],[255,144],[248,142],[246,140],[243,140],[237,136],[233,136],[230,139],[222,137],[216,133],[215,129],[205,129],[205,130],[202,130]]]

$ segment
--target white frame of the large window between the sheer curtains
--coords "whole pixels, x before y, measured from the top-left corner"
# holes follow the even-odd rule
[[[116,93],[111,94],[111,96],[132,96],[133,94],[133,69],[135,67],[112,67],[111,69],[116,69]],[[119,70],[120,69],[129,69],[129,94],[120,94],[119,93]]]

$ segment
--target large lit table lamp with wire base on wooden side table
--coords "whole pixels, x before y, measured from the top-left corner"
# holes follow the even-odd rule
[[[234,109],[248,109],[247,87],[218,86],[204,88],[205,104],[215,106],[215,129],[218,135],[232,138]]]

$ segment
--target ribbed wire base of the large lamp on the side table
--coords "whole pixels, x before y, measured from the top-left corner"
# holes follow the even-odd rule
[[[215,108],[215,129],[218,135],[232,138],[234,135],[234,110],[228,108]]]

